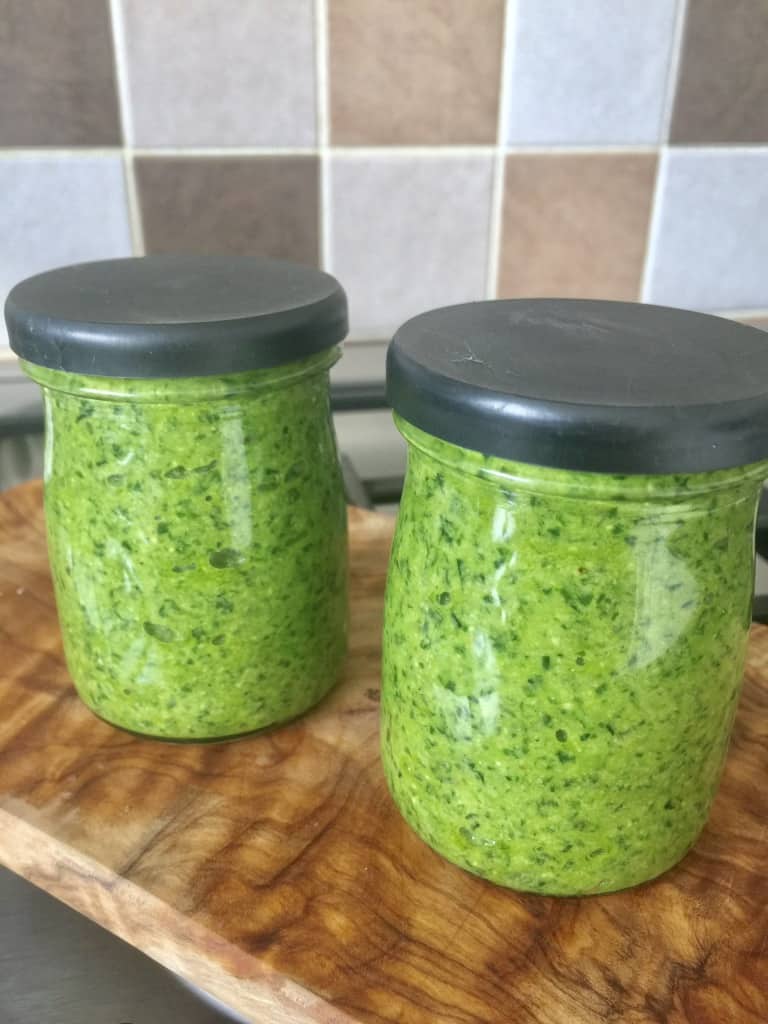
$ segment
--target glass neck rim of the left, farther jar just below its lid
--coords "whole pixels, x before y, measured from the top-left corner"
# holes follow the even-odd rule
[[[253,395],[289,387],[299,380],[328,373],[341,357],[334,345],[316,355],[265,370],[207,377],[95,377],[51,370],[22,360],[22,369],[41,387],[67,394],[106,401],[147,403],[212,401],[238,395]]]

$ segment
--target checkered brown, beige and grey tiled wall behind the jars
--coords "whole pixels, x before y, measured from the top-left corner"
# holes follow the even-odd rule
[[[767,41],[768,0],[5,0],[0,293],[207,249],[328,267],[357,340],[495,295],[757,314]]]

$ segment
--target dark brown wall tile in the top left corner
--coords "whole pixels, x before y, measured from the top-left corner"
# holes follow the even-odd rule
[[[106,0],[0,4],[0,146],[115,145]]]

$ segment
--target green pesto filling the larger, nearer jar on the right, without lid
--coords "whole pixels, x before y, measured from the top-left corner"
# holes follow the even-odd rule
[[[606,892],[671,867],[723,767],[768,466],[565,472],[398,426],[382,735],[403,815],[520,890]]]

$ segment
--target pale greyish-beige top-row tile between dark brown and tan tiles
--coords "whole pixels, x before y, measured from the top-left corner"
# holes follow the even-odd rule
[[[312,0],[122,0],[140,146],[312,145]]]

